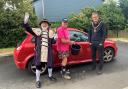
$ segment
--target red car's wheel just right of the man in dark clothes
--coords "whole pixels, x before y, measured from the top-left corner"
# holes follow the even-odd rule
[[[104,50],[104,62],[107,63],[107,62],[111,62],[114,58],[114,50],[113,48],[105,48]]]

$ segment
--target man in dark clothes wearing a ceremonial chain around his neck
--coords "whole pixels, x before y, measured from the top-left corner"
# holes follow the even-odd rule
[[[99,19],[97,12],[92,13],[92,25],[89,30],[89,42],[91,43],[93,66],[92,70],[97,67],[96,52],[99,53],[99,65],[97,73],[101,74],[103,69],[103,56],[104,56],[104,41],[106,37],[106,28],[102,21]]]

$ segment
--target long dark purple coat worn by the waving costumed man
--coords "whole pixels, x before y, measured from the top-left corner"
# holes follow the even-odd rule
[[[41,65],[41,44],[42,44],[42,38],[40,36],[37,36],[33,31],[32,28],[29,26],[29,24],[23,24],[23,27],[27,32],[29,32],[31,35],[35,37],[35,57],[34,57],[34,64],[36,66]],[[53,67],[53,51],[52,51],[52,38],[49,38],[48,36],[48,67]]]

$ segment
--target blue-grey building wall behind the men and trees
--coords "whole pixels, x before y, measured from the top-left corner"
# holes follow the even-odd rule
[[[85,7],[96,7],[104,0],[34,0],[33,7],[39,20],[60,21]]]

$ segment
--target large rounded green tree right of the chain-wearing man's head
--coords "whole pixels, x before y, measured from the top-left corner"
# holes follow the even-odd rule
[[[113,1],[103,4],[97,10],[101,19],[106,23],[108,30],[124,30],[125,17],[121,8]]]

